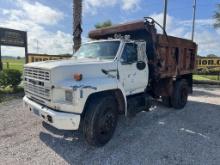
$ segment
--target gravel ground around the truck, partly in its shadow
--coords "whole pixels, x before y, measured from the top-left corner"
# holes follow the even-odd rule
[[[87,145],[79,132],[59,131],[23,109],[0,104],[0,164],[220,164],[220,87],[196,86],[183,110],[158,104],[119,118],[113,139]]]

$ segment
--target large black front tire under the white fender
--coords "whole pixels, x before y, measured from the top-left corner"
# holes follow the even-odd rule
[[[118,119],[117,101],[113,96],[90,100],[84,117],[83,134],[93,146],[104,146],[112,138]]]

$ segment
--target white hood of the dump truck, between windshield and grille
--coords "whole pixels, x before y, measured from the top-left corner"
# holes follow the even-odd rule
[[[116,61],[98,59],[45,61],[26,64],[25,67],[49,70],[51,74],[51,82],[54,84],[65,80],[73,80],[74,73],[81,73],[83,75],[83,81],[86,81],[86,79],[89,78],[109,78],[116,77],[117,75]],[[108,75],[108,71],[111,72],[110,76]]]

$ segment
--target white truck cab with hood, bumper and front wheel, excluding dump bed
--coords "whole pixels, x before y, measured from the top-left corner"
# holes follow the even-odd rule
[[[118,113],[128,115],[127,98],[148,85],[145,41],[107,39],[85,43],[69,60],[24,67],[24,105],[63,130],[82,125],[86,140],[107,143]]]

